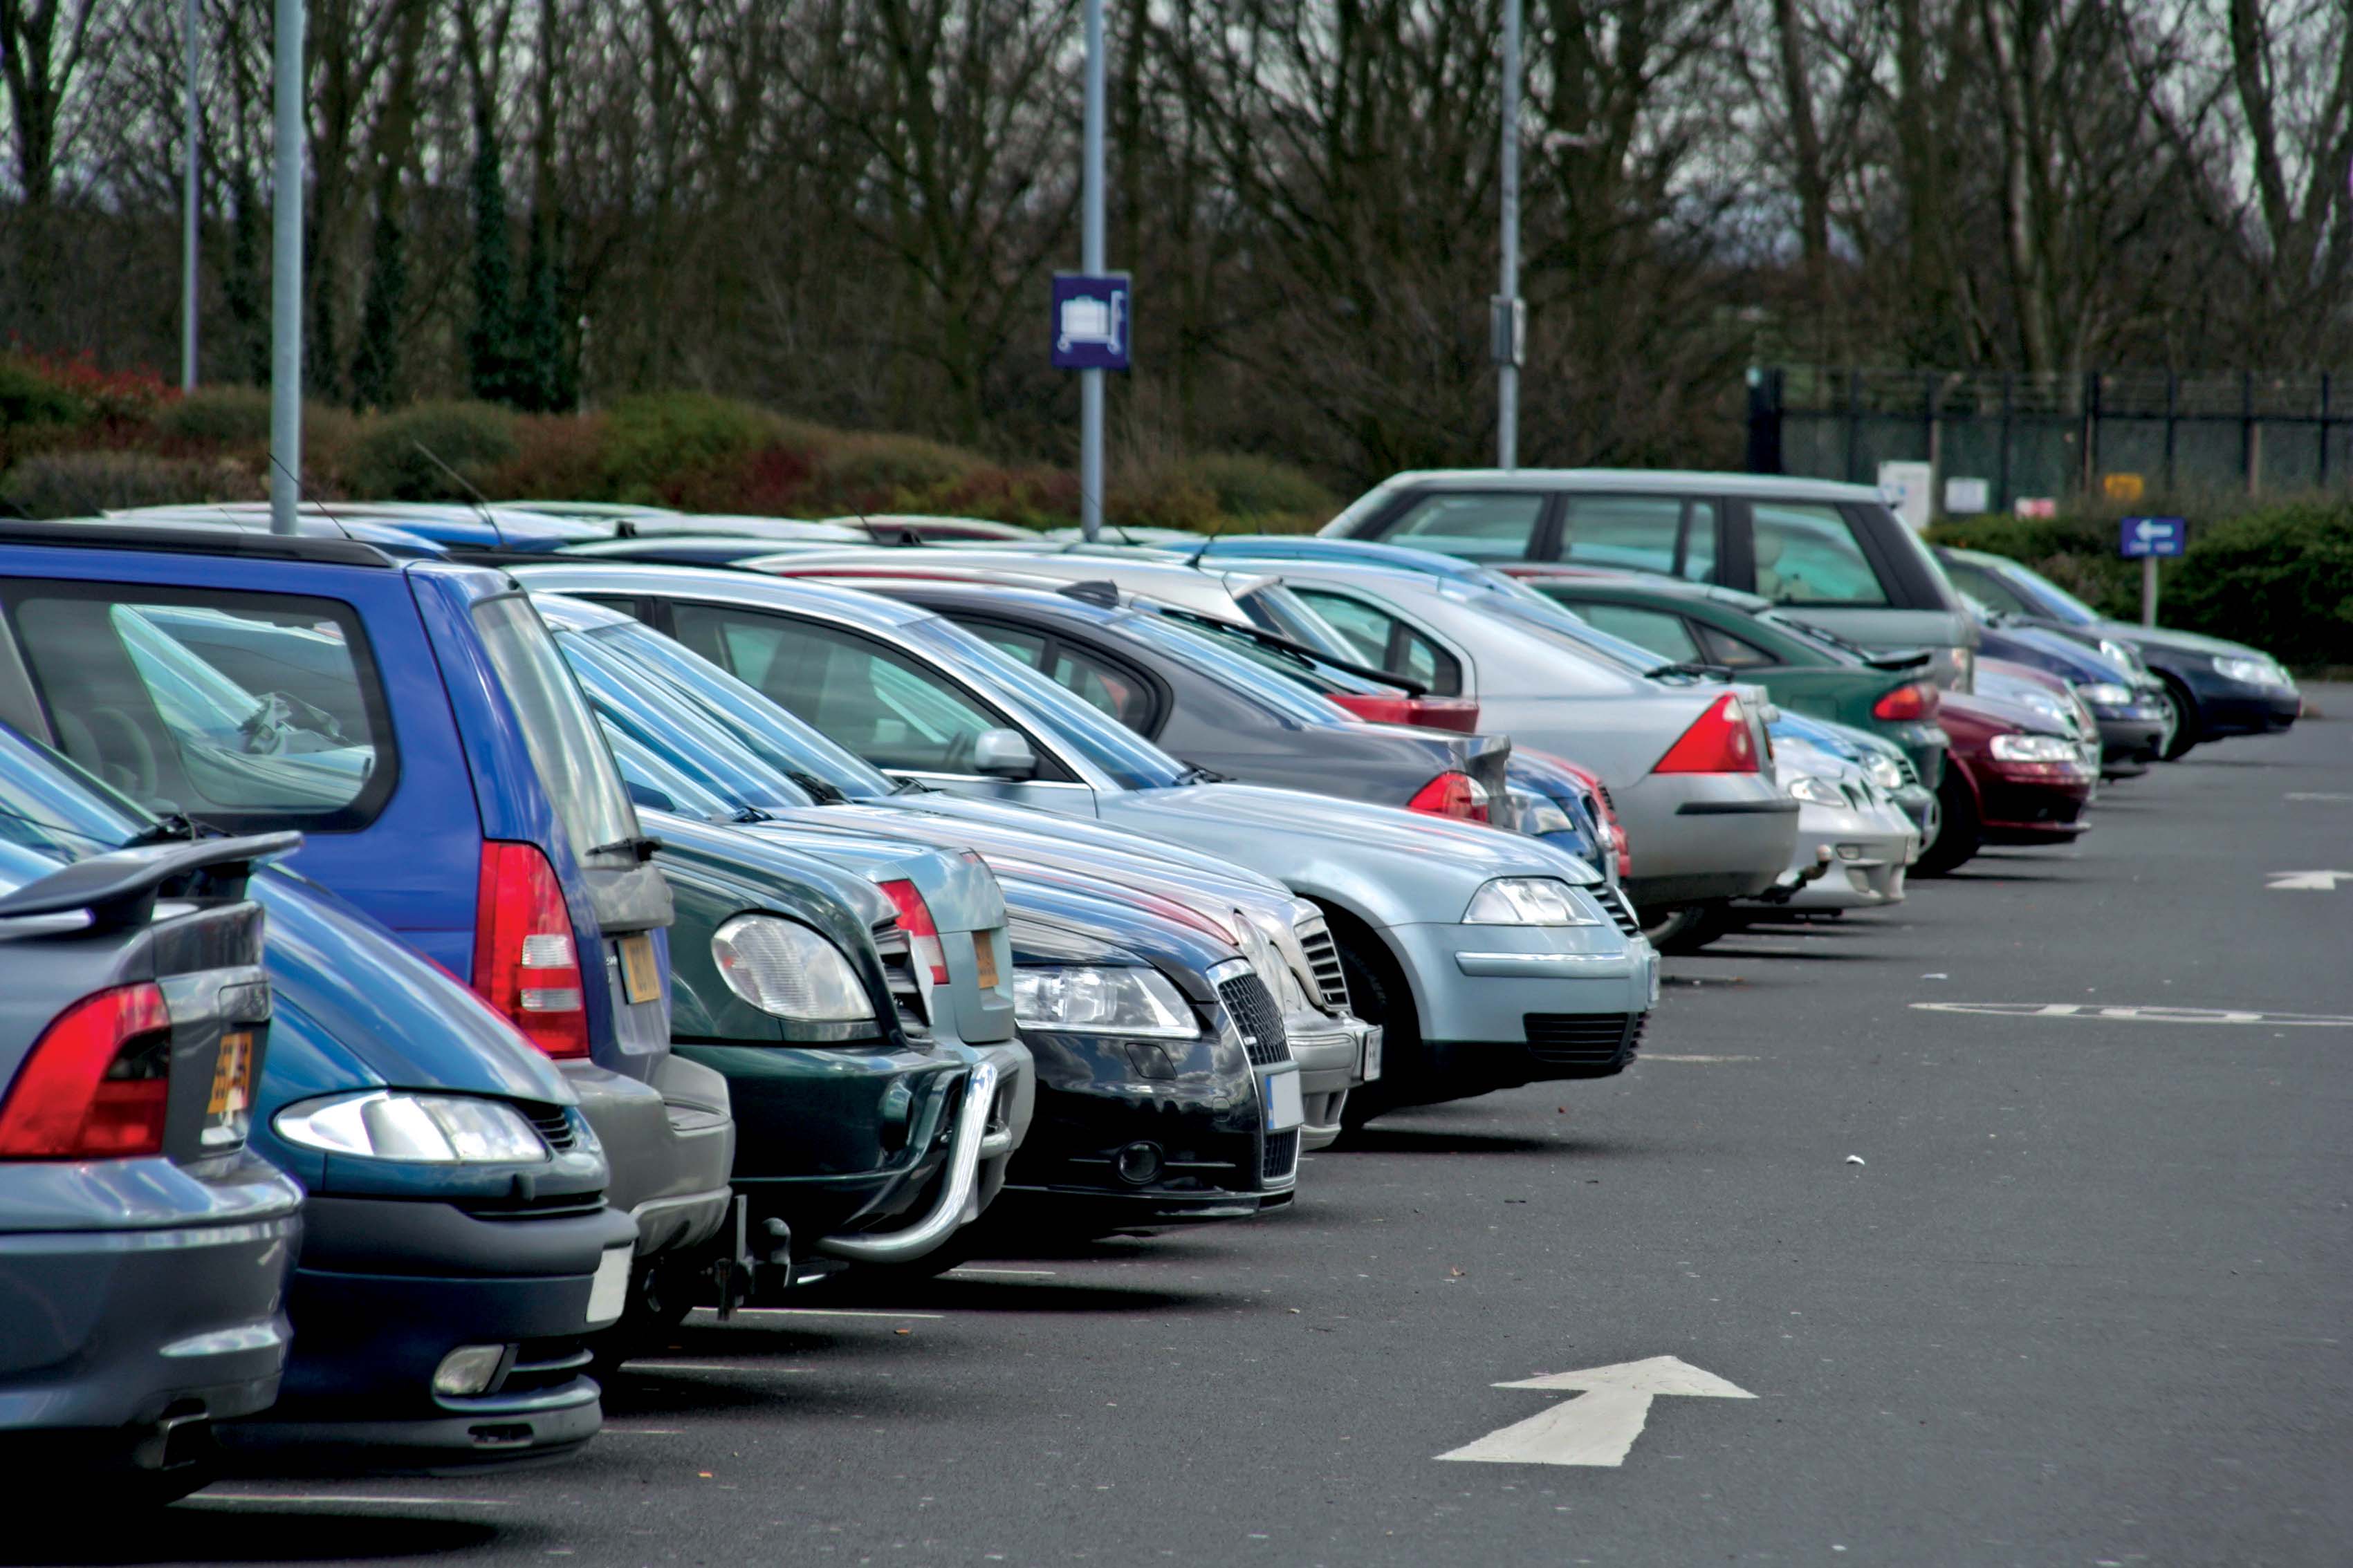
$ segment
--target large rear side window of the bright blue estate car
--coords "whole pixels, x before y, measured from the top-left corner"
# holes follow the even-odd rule
[[[391,719],[348,604],[26,581],[9,616],[59,750],[151,811],[334,832],[393,792]]]

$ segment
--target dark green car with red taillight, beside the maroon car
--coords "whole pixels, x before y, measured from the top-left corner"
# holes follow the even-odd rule
[[[1595,630],[1659,658],[1725,668],[1732,679],[1765,686],[1791,712],[1887,736],[1929,790],[1944,776],[1946,736],[1937,729],[1937,686],[1925,651],[1859,649],[1807,625],[1798,618],[1802,611],[1737,588],[1518,562],[1504,571],[1567,604]]]

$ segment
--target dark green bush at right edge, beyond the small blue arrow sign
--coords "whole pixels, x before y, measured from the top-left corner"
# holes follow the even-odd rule
[[[2294,668],[2353,665],[2353,501],[2275,505],[2193,529],[2160,614]]]

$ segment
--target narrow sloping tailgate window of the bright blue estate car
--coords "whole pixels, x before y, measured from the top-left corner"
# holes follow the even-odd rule
[[[638,813],[621,771],[539,611],[522,595],[501,595],[473,607],[473,625],[522,724],[522,743],[572,839],[572,853],[584,860],[598,851],[635,858]]]

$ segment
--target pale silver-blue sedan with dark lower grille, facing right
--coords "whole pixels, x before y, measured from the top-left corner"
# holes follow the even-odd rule
[[[873,595],[680,567],[541,567],[532,583],[661,616],[887,773],[1167,837],[1313,898],[1351,1009],[1386,1030],[1381,1084],[1351,1095],[1351,1119],[1633,1058],[1657,959],[1598,872],[1534,839],[1202,783],[1028,665]],[[1765,884],[1784,858],[1786,842]]]

